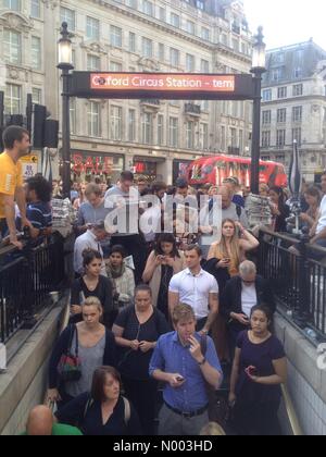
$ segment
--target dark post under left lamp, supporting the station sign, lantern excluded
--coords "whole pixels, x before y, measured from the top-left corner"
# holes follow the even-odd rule
[[[71,125],[70,125],[70,79],[67,69],[62,70],[62,181],[63,197],[71,198]]]

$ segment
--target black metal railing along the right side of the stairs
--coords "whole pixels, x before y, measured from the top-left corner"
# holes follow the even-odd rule
[[[259,273],[271,281],[285,317],[315,344],[326,341],[324,259],[326,249],[310,245],[306,235],[260,232]]]

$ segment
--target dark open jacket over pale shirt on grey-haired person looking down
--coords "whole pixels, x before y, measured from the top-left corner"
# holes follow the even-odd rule
[[[272,288],[269,287],[268,281],[258,275],[255,280],[255,291],[258,305],[266,305],[274,313],[276,311],[276,305],[274,300],[274,294]],[[229,280],[221,297],[221,313],[227,320],[230,319],[231,312],[235,312],[236,314],[241,314],[241,312],[243,312],[241,304],[241,277],[235,276],[231,280]]]

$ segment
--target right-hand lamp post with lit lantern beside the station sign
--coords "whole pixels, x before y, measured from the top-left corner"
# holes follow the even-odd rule
[[[258,195],[260,188],[262,75],[266,72],[266,45],[264,44],[263,27],[259,27],[254,40],[251,69],[254,99],[250,187],[252,194]]]

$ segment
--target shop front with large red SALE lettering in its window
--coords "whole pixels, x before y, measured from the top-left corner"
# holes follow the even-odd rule
[[[108,152],[72,150],[72,181],[91,182],[100,177],[113,185],[124,170],[124,156]]]

